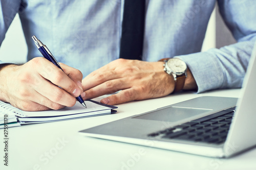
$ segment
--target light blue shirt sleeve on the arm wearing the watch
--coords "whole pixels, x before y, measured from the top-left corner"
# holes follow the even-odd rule
[[[223,20],[237,43],[177,56],[191,70],[198,93],[219,88],[240,88],[256,40],[256,3],[253,0],[219,0],[218,4]]]

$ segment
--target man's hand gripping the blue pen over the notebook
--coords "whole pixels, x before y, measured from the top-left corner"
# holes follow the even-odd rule
[[[24,65],[0,67],[0,100],[25,111],[74,106],[75,97],[82,92],[82,74],[60,65],[65,72],[47,59],[37,57]]]

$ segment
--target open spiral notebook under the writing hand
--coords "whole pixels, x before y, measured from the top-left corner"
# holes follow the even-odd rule
[[[86,105],[87,108],[84,108],[77,102],[73,107],[65,107],[60,110],[23,111],[9,103],[0,101],[0,129],[24,124],[56,122],[59,120],[111,114],[115,113],[116,110],[113,109],[117,108],[93,100],[86,101]]]

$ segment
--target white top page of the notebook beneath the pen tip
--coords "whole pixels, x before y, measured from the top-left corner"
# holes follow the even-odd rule
[[[78,113],[90,113],[101,110],[110,110],[110,107],[102,106],[91,101],[86,101],[87,108],[83,107],[79,102],[73,107],[65,107],[59,110],[47,110],[47,111],[16,111],[18,117],[44,117],[44,116],[63,116]]]

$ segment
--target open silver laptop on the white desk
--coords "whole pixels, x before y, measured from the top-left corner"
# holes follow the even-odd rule
[[[202,96],[79,131],[114,141],[228,158],[256,145],[256,44],[241,97]]]

